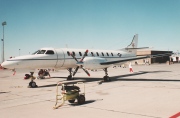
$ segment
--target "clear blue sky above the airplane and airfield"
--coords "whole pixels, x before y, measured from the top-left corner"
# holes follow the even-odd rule
[[[42,47],[180,51],[180,0],[0,0],[5,59]],[[3,28],[0,28],[2,38]],[[2,41],[0,45],[2,53]],[[1,57],[2,58],[2,57]],[[0,58],[0,62],[1,62]]]

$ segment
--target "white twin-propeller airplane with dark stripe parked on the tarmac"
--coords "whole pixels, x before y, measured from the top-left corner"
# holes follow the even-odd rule
[[[67,80],[73,80],[73,77],[79,68],[83,69],[88,76],[90,76],[90,73],[87,69],[103,69],[105,72],[105,76],[103,77],[104,81],[111,81],[108,76],[107,68],[112,65],[121,65],[132,60],[170,55],[170,53],[166,53],[159,55],[137,56],[136,52],[138,49],[148,48],[138,48],[137,46],[138,34],[134,35],[132,42],[126,48],[119,50],[41,48],[32,55],[18,56],[8,59],[3,62],[1,66],[12,70],[18,68],[33,70],[47,68],[55,70],[67,69],[69,71]],[[31,76],[33,76],[33,72],[31,72]],[[31,79],[29,86],[34,88],[37,85],[33,79]]]

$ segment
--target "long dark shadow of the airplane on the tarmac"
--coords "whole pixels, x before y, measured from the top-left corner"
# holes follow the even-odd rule
[[[134,72],[134,73],[129,73],[125,75],[118,75],[118,76],[110,76],[111,82],[115,81],[174,81],[174,82],[180,82],[180,80],[175,80],[175,79],[138,79],[138,78],[124,78],[124,77],[131,77],[131,76],[136,76],[136,75],[143,75],[143,74],[148,74],[148,73],[163,73],[163,72],[171,72],[171,71],[139,71],[139,72]],[[67,78],[67,77],[52,77],[52,78]],[[74,77],[75,80],[84,80],[85,82],[99,82],[102,81],[103,78],[89,78],[89,77]],[[66,80],[63,80],[66,81]],[[108,83],[108,82],[103,82],[103,83]],[[53,87],[57,86],[57,84],[50,84],[50,85],[43,85],[39,86],[38,88],[43,88],[43,87]]]

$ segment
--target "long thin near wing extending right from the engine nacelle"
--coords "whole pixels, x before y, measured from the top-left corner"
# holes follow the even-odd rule
[[[163,56],[171,56],[172,53],[164,53],[164,54],[156,54],[156,55],[146,55],[146,56],[137,56],[137,57],[129,57],[129,58],[122,58],[120,60],[116,61],[106,61],[101,62],[101,65],[109,65],[109,64],[117,64],[121,62],[127,62],[127,61],[133,61],[133,60],[139,60],[139,59],[145,59],[145,58],[157,58],[157,57],[163,57]]]

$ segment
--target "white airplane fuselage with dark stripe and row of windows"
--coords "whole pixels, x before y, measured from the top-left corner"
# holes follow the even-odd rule
[[[86,49],[55,49],[42,48],[41,53],[11,58],[2,63],[4,68],[29,68],[29,69],[68,69],[77,67],[78,63],[70,53],[80,60]],[[44,52],[43,52],[44,51]],[[122,50],[89,50],[83,60],[83,67],[86,69],[103,69],[111,65],[101,65],[101,62],[116,61],[136,57],[136,54]]]

